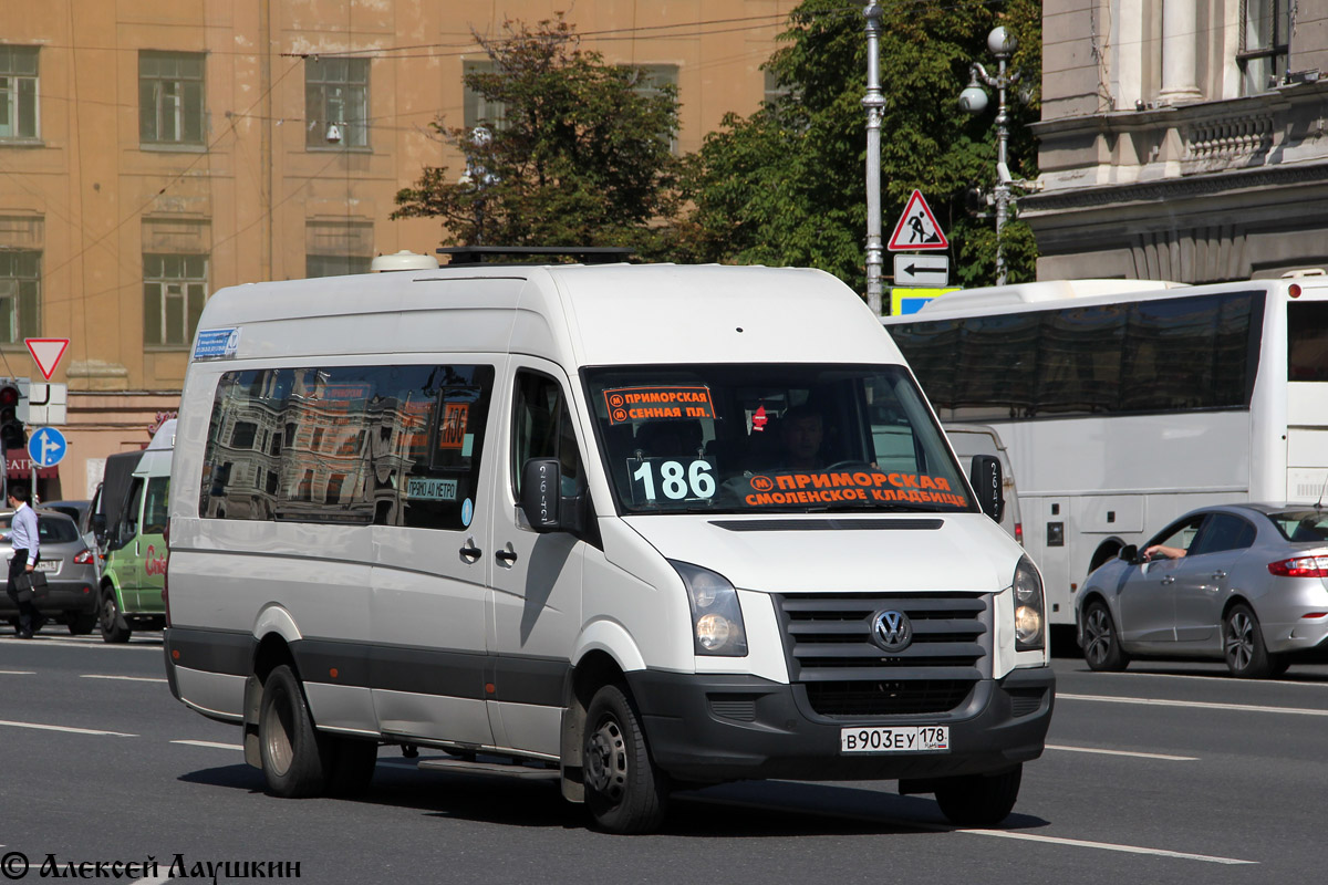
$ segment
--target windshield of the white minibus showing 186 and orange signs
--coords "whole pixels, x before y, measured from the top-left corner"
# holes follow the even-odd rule
[[[586,381],[624,513],[976,510],[899,366],[618,366]]]

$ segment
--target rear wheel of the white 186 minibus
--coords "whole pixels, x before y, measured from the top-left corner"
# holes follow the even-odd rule
[[[313,728],[300,681],[284,663],[263,681],[258,743],[270,793],[303,799],[327,791],[331,742]]]

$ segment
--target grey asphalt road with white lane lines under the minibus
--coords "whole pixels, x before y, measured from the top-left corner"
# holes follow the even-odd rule
[[[270,797],[239,730],[170,697],[161,655],[151,634],[0,640],[0,882],[23,873],[15,853],[25,881],[48,856],[62,872],[155,858],[157,877],[126,882],[166,881],[177,854],[181,881],[259,861],[297,862],[319,884],[1190,885],[1301,881],[1323,865],[1323,665],[1256,683],[1220,665],[1096,674],[1057,659],[1048,751],[1000,829],[948,827],[891,782],[776,782],[680,793],[663,833],[615,837],[552,785],[414,771],[389,748],[365,800]]]

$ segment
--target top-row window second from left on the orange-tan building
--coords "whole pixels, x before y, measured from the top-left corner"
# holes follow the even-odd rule
[[[138,138],[145,145],[203,143],[203,53],[138,53]]]

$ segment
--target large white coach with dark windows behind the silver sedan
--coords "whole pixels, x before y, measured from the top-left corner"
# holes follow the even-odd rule
[[[883,322],[936,414],[1008,447],[1053,625],[1090,571],[1194,507],[1324,492],[1328,277],[1028,283]]]

